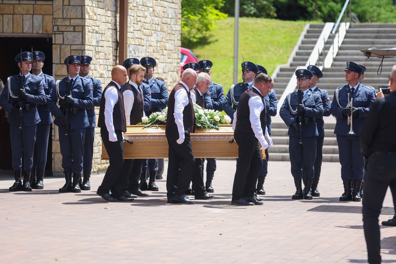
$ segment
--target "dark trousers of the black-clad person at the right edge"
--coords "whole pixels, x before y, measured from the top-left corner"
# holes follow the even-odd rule
[[[363,228],[369,263],[381,263],[378,217],[388,186],[396,204],[396,153],[371,154],[364,175]]]

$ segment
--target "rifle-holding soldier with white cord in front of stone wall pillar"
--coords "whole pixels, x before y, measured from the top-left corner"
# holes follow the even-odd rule
[[[79,181],[84,163],[84,139],[86,128],[89,127],[87,109],[93,108],[93,87],[90,80],[78,75],[80,62],[79,55],[70,55],[65,59],[69,75],[56,81],[47,102],[55,116],[54,123],[59,128],[59,146],[66,180],[59,192],[81,192]],[[59,108],[56,105],[58,100]]]

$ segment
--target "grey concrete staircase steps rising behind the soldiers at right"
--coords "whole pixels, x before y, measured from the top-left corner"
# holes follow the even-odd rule
[[[277,97],[282,95],[287,82],[290,80],[294,69],[300,65],[304,65],[310,55],[316,39],[323,28],[323,25],[313,24],[305,34],[305,39],[299,46],[293,61],[287,67],[281,67],[274,82]],[[329,38],[326,42],[326,53],[331,45],[332,39]],[[396,46],[396,24],[368,24],[358,23],[351,24],[340,50],[334,59],[331,68],[322,70],[324,77],[318,82],[320,89],[327,90],[330,100],[333,100],[333,94],[337,87],[345,85],[344,69],[347,61],[354,61],[356,63],[366,66],[364,85],[373,86],[379,91],[379,87],[387,87],[388,75],[392,69],[392,65],[396,64],[396,58],[384,59],[382,74],[377,75],[378,67],[381,63],[379,58],[367,59],[364,57],[360,49],[367,47],[388,48]],[[315,62],[311,62],[313,64]],[[279,113],[279,109],[278,109]],[[325,132],[323,146],[323,161],[339,162],[338,146],[335,134],[333,133],[335,127],[335,119],[333,116],[325,117]],[[280,118],[279,114],[272,118],[272,135],[274,146],[268,149],[269,159],[275,161],[289,161],[289,137],[287,136],[287,126]]]

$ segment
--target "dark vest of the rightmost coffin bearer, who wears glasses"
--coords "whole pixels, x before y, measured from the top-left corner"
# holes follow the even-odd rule
[[[261,129],[263,129],[263,134],[265,134],[265,123],[267,122],[267,111],[265,109],[264,97],[255,88],[250,87],[244,93],[242,93],[241,98],[238,103],[238,110],[236,111],[236,125],[235,132],[244,132],[254,135],[254,131],[251,128],[250,123],[250,108],[249,99],[253,96],[259,96],[264,104],[264,109],[260,114]]]

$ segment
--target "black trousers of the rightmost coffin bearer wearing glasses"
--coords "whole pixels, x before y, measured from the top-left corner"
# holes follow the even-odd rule
[[[253,197],[256,191],[257,178],[263,159],[259,147],[259,141],[254,134],[234,133],[234,139],[238,144],[238,161],[232,186],[232,200],[243,197]]]

